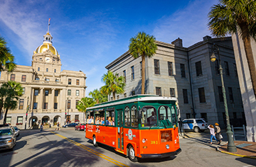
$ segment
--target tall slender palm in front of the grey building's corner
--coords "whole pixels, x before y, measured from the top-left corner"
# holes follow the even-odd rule
[[[130,39],[129,52],[134,59],[142,56],[142,94],[145,93],[145,57],[153,57],[156,53],[156,38],[153,35],[147,35],[144,32],[138,33]]]

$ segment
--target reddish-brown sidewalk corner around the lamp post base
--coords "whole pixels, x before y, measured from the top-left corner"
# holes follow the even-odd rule
[[[234,143],[237,147],[237,151],[234,153],[228,151],[228,142],[224,145],[218,146],[217,151],[234,156],[256,159],[256,142],[234,141]]]

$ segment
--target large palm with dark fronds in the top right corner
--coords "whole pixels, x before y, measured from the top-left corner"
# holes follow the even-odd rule
[[[256,97],[256,69],[250,39],[256,39],[256,1],[220,0],[208,13],[208,27],[216,37],[240,33],[245,46],[252,87]]]

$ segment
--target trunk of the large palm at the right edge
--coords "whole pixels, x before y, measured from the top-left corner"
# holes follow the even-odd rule
[[[253,58],[252,54],[252,46],[250,43],[250,35],[249,35],[249,30],[248,27],[245,23],[240,23],[239,24],[241,30],[242,30],[242,41],[245,45],[245,54],[250,70],[250,77],[252,80],[252,88],[255,93],[255,98],[256,98],[256,68],[255,68],[255,61]]]

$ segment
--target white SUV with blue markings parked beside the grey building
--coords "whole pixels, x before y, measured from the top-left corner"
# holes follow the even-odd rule
[[[183,129],[193,130],[194,132],[204,132],[208,123],[203,118],[190,118],[182,121]]]

